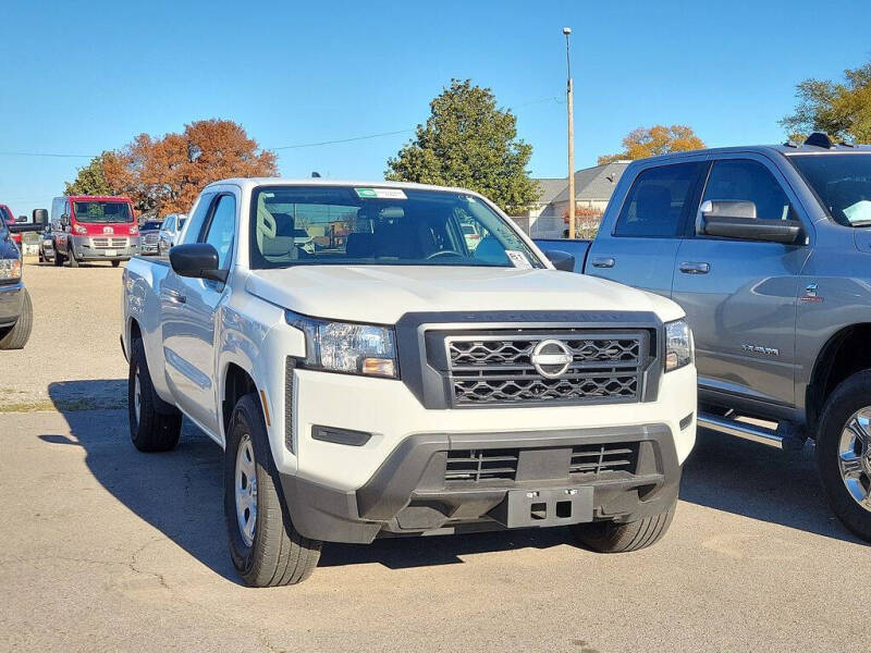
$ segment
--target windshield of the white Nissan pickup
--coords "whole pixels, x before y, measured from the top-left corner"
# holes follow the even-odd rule
[[[495,211],[464,193],[273,186],[252,198],[252,268],[297,264],[543,268]],[[465,225],[480,241],[473,249]],[[303,237],[310,241],[304,243]]]

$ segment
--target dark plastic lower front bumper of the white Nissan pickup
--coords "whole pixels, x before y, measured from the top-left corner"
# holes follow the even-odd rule
[[[614,443],[627,443],[637,451],[631,471],[571,473],[564,464],[573,447]],[[445,480],[449,452],[506,448],[520,452],[513,480]],[[391,534],[635,521],[666,510],[677,498],[680,466],[665,424],[426,433],[405,440],[356,491],[343,492],[289,475],[281,475],[281,484],[291,518],[303,535],[368,543]]]

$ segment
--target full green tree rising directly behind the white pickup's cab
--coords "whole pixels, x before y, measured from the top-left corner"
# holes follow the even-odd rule
[[[540,195],[527,170],[531,156],[532,146],[517,138],[516,116],[496,108],[492,90],[452,79],[384,176],[477,190],[511,214]]]

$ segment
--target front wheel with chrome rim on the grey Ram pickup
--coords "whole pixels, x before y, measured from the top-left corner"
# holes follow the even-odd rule
[[[817,468],[837,518],[871,541],[871,370],[847,378],[826,401]]]

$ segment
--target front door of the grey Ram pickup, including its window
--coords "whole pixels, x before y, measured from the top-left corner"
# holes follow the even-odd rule
[[[800,219],[785,178],[761,155],[717,158],[706,200],[752,201],[761,220]],[[696,338],[702,399],[725,394],[794,406],[798,275],[810,248],[712,237],[701,229],[697,212],[694,233],[678,249],[672,297]]]

